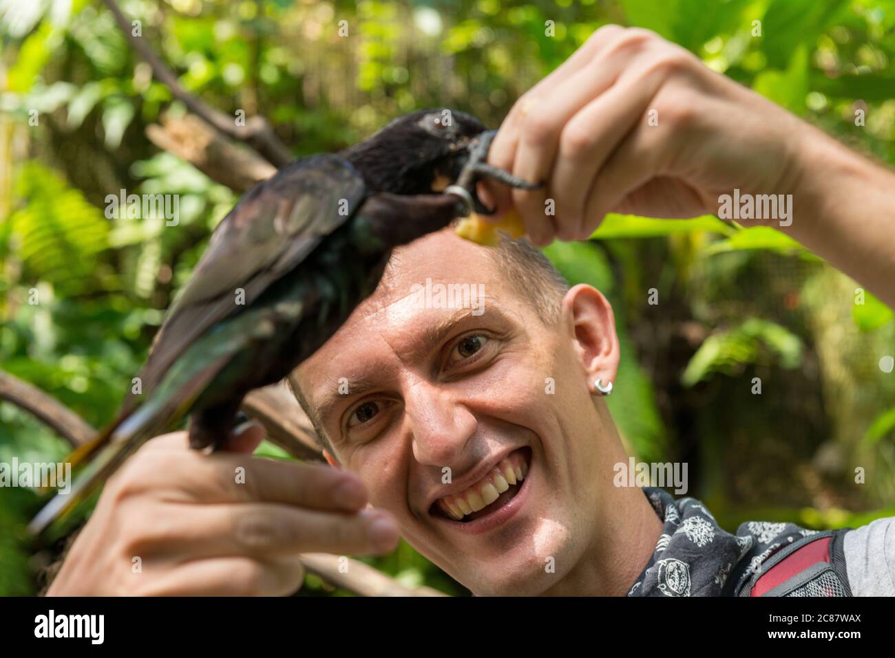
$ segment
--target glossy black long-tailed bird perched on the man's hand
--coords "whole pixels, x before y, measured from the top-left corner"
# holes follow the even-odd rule
[[[337,155],[286,165],[246,192],[212,233],[141,370],[142,394],[69,458],[90,460],[31,521],[40,533],[152,436],[190,417],[190,445],[230,436],[243,397],[320,348],[376,288],[391,250],[473,207],[475,181],[531,188],[484,163],[494,131],[421,110]],[[447,193],[438,189],[456,181]]]

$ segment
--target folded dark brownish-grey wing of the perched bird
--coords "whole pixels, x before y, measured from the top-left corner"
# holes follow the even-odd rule
[[[212,233],[190,280],[168,309],[141,371],[142,392],[202,333],[251,305],[320,240],[345,223],[366,194],[344,159],[312,156],[249,190]],[[237,305],[236,291],[244,291]]]

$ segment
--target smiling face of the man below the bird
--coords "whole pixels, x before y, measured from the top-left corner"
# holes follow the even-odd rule
[[[297,377],[337,460],[410,544],[476,594],[538,594],[592,549],[611,479],[601,436],[615,434],[569,305],[545,325],[485,249],[447,231],[397,250]],[[484,299],[444,308],[439,284],[464,283]]]

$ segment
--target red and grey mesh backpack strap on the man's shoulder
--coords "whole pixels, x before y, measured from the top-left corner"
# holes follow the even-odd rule
[[[842,552],[847,531],[806,536],[774,553],[740,596],[851,596]]]

